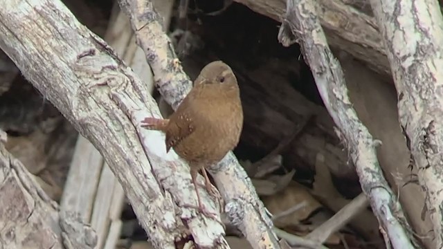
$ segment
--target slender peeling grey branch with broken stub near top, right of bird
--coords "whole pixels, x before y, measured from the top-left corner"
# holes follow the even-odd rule
[[[413,236],[406,232],[410,229],[408,222],[379,167],[375,151],[377,142],[361,124],[350,103],[343,71],[329,50],[316,17],[316,7],[316,1],[289,0],[279,40],[297,37],[323,102],[338,126],[338,136],[350,151],[363,192],[370,199],[372,210],[386,234],[386,244],[392,243],[394,248],[414,248]]]

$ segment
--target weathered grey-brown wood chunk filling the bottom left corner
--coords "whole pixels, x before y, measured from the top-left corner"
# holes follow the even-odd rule
[[[3,145],[0,131],[0,247],[92,249],[95,232],[58,205]],[[59,225],[60,224],[60,225]]]

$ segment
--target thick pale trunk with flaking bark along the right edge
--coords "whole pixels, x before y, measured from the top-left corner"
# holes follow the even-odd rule
[[[443,18],[437,1],[371,0],[392,67],[399,120],[443,247]],[[406,167],[406,165],[405,165]]]

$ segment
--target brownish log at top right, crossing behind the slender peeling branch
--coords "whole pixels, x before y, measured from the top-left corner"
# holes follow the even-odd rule
[[[235,0],[251,10],[275,21],[282,21],[286,10],[285,0]],[[356,0],[320,0],[318,18],[325,28],[325,34],[330,46],[345,50],[360,59],[375,71],[390,75],[390,67],[386,58],[376,21],[368,12],[361,12],[354,6],[365,6],[363,1]],[[366,8],[365,8],[366,9]]]

